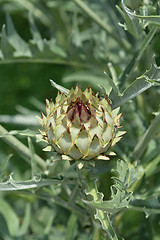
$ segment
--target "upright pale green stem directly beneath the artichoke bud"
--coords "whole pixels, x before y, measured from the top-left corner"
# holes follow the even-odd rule
[[[99,197],[100,193],[97,190],[95,181],[91,178],[89,172],[84,168],[82,170],[78,169],[78,172],[83,189],[86,189],[88,191],[88,193],[93,197],[93,201],[102,201]],[[106,212],[100,209],[96,209],[96,214],[94,215],[94,217],[96,219],[99,219],[99,221],[101,222],[102,228],[107,233],[109,240],[118,240],[110,218]]]

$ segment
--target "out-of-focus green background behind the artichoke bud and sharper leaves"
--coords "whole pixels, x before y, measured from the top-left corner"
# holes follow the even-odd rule
[[[141,30],[138,37],[124,31],[123,27],[118,24],[124,23],[124,19],[116,7],[116,5],[121,6],[118,0],[84,1],[88,8],[99,16],[108,30],[97,24],[75,2],[69,0],[0,0],[1,39],[5,40],[1,40],[0,47],[0,122],[7,130],[29,128],[37,131],[38,124],[36,126],[28,124],[27,118],[24,119],[27,115],[32,115],[34,118],[40,110],[44,110],[46,98],[55,98],[57,90],[51,87],[49,79],[53,79],[57,84],[68,89],[76,84],[82,89],[90,85],[96,92],[99,90],[99,85],[103,85],[110,91],[104,71],[110,77],[113,75],[120,77],[150,31],[150,26],[148,26],[145,30]],[[156,0],[128,0],[125,1],[125,4],[130,9],[136,10],[138,14],[146,11],[147,15],[155,15],[158,2]],[[12,24],[14,24],[14,28]],[[16,34],[13,31],[15,29]],[[7,38],[4,37],[5,34]],[[117,39],[112,34],[117,36]],[[127,43],[127,47],[123,46],[122,40]],[[119,83],[122,91],[136,77],[150,68],[153,56],[159,66],[159,27],[131,77],[127,82]],[[108,63],[112,65],[108,65]],[[98,163],[94,170],[94,174],[99,176],[99,190],[104,193],[105,199],[109,199],[110,186],[113,184],[111,179],[113,174],[110,170],[115,166],[118,158],[130,158],[135,145],[153,120],[153,113],[158,112],[159,103],[160,89],[152,87],[138,95],[132,102],[122,105],[122,125],[123,130],[127,130],[127,134],[123,137],[122,142],[115,146],[117,157],[114,157],[111,163]],[[13,124],[12,118],[9,122],[3,120],[4,115],[14,117],[17,114],[24,116],[21,122],[15,121]],[[18,138],[28,145],[26,137],[18,136]],[[50,157],[42,152],[42,147],[34,139],[33,144],[36,153],[44,159]],[[159,146],[158,135],[151,141],[141,159],[142,162],[139,161],[143,167],[147,161],[150,162],[154,156],[158,156]],[[1,161],[10,153],[13,153],[13,156],[9,160],[2,180],[6,180],[12,172],[14,172],[13,178],[16,180],[30,179],[30,166],[22,156],[19,156],[15,150],[0,140]],[[147,179],[144,177],[139,187],[140,193],[159,185],[159,171],[160,166],[157,164],[152,175]],[[55,176],[59,173],[69,177],[74,176],[74,166],[71,168],[67,164],[61,166]],[[60,199],[67,201],[67,191],[70,189],[68,190],[66,186],[63,187],[51,190]],[[46,189],[45,191],[47,192]],[[159,195],[156,196],[159,199]],[[82,219],[79,220],[76,214],[64,208],[63,204],[58,206],[58,200],[57,202],[46,201],[36,194],[23,195],[13,192],[0,193],[0,199],[1,206],[8,209],[8,213],[5,215],[2,207],[0,208],[0,240],[104,239],[101,238],[101,230],[97,230],[88,220],[88,211],[85,216],[87,220],[85,218],[83,224]],[[80,200],[78,200],[78,204],[84,209]],[[9,206],[12,209],[9,209]],[[12,214],[15,215],[12,216]],[[11,234],[10,228],[15,226],[13,221],[7,220],[7,216],[10,216],[10,219],[12,217],[16,219],[20,225],[24,221],[24,216],[26,219],[28,216],[28,220],[26,220],[28,225],[26,224],[26,230],[22,231],[23,234],[20,231],[17,236],[15,233]],[[160,238],[159,214],[153,214],[146,218],[145,213],[129,210],[118,214],[113,222],[116,231],[124,239],[158,240]],[[94,232],[93,235],[92,232]]]

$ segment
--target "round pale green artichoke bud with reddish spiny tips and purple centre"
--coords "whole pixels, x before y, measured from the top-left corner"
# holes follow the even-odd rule
[[[90,87],[84,92],[76,86],[67,95],[58,92],[55,103],[46,100],[46,116],[40,123],[43,138],[62,159],[83,162],[103,159],[108,150],[121,139],[119,108],[111,110],[106,95],[100,98]],[[93,161],[92,161],[93,162]]]

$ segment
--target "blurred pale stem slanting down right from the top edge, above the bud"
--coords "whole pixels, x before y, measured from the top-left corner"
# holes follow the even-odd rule
[[[81,0],[74,0],[74,2],[90,17],[93,21],[95,21],[105,32],[110,35],[116,42],[118,42],[125,50],[128,52],[131,51],[130,44],[125,40],[119,38],[119,36],[113,33],[113,29],[104,23],[104,21],[91,9],[89,8],[84,2]]]

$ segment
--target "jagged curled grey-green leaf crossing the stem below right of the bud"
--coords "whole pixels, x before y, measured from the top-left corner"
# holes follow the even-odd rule
[[[130,186],[137,179],[138,171],[135,165],[130,165],[125,161],[118,161],[117,168],[114,170],[117,177],[114,177],[115,184],[111,187],[111,200],[103,201],[103,194],[98,193],[99,198],[95,199],[90,191],[87,191],[93,197],[92,201],[84,202],[93,208],[101,209],[108,213],[115,213],[125,207],[128,207],[132,198]]]

